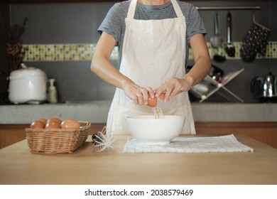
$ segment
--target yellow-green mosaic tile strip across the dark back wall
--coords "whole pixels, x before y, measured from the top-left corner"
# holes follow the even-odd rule
[[[210,43],[207,46],[210,51],[211,57],[215,54],[223,55],[227,59],[241,59],[239,49],[241,48],[241,42],[233,43],[236,48],[236,54],[234,58],[229,58],[225,53],[224,48],[214,49]],[[95,50],[96,44],[27,44],[24,45],[28,48],[26,51],[24,61],[87,61],[92,60],[92,56]],[[116,60],[118,56],[117,48],[114,48],[111,56],[111,60]],[[262,58],[261,55],[257,55],[256,58]],[[264,58],[277,58],[277,41],[268,42],[266,56]],[[192,60],[192,52],[189,52],[189,59]]]

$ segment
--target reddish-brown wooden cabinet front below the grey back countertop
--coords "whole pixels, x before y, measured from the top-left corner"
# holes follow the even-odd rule
[[[89,134],[102,131],[105,124],[92,124]],[[26,124],[0,124],[0,149],[26,139]],[[197,122],[198,134],[244,134],[277,149],[277,122]]]

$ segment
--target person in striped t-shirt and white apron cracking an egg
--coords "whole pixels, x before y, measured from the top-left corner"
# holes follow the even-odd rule
[[[195,134],[188,90],[210,72],[211,60],[200,15],[178,0],[130,0],[114,4],[98,30],[101,33],[91,70],[116,92],[107,132],[129,134],[125,117],[153,114],[149,97],[165,94],[163,114],[185,115],[183,134]],[[109,62],[119,48],[119,70]],[[195,60],[185,74],[188,48]]]

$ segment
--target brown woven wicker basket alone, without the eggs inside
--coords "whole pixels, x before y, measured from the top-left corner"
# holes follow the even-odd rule
[[[87,140],[90,122],[80,121],[80,129],[25,129],[33,154],[72,153]]]

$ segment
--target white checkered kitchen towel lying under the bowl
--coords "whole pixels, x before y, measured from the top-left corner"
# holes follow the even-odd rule
[[[132,137],[126,142],[123,153],[217,153],[253,152],[231,134],[227,136],[175,138],[166,145],[147,145]]]

